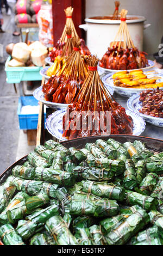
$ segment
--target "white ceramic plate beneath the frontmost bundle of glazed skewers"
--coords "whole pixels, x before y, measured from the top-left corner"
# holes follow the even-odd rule
[[[59,141],[67,141],[66,138],[62,137],[63,129],[62,129],[62,117],[64,116],[66,112],[65,109],[61,109],[58,111],[55,111],[53,114],[49,115],[46,119],[46,129],[48,130],[51,135]],[[133,135],[141,135],[141,133],[146,128],[146,123],[143,120],[143,118],[140,117],[139,114],[134,113],[133,111],[129,111],[126,109],[126,113],[130,115],[131,118],[133,118],[134,122],[134,129],[133,129]]]

